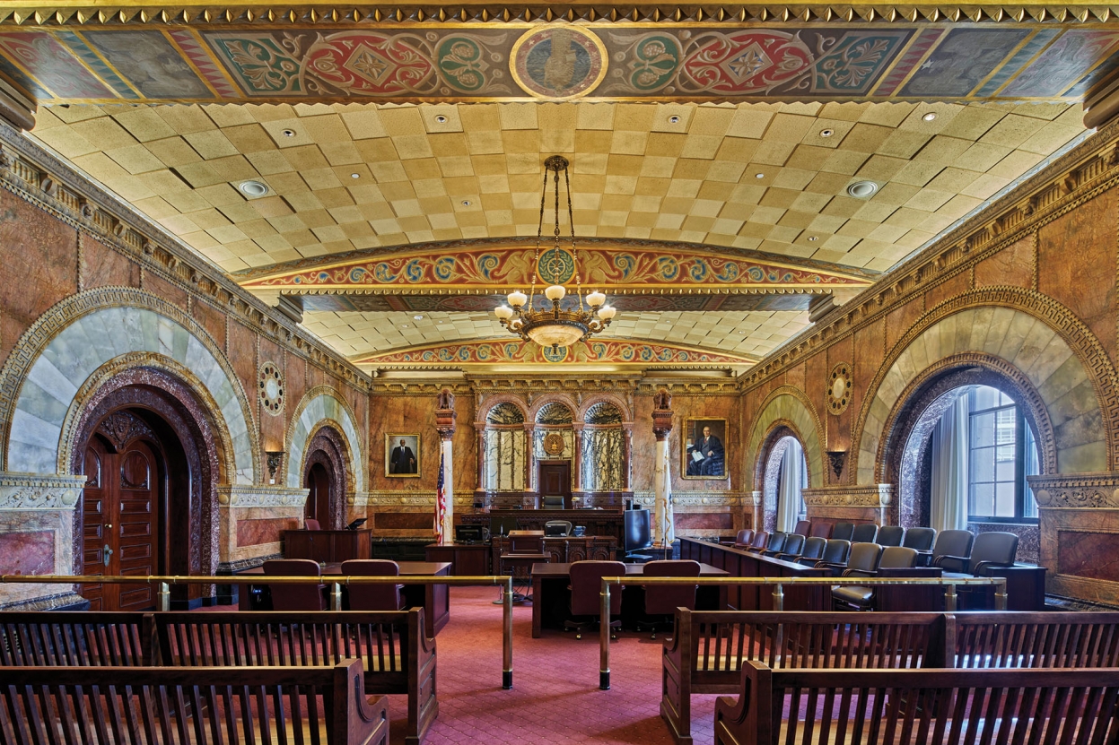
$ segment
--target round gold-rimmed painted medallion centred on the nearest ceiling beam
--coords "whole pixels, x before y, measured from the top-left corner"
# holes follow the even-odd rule
[[[513,79],[540,98],[574,98],[593,91],[606,74],[602,40],[577,26],[532,29],[509,55]]]

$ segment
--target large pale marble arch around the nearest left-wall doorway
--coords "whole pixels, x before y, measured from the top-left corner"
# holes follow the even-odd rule
[[[260,452],[252,408],[222,350],[206,330],[177,307],[134,287],[98,287],[67,298],[46,311],[17,343],[0,370],[3,469],[25,473],[65,472],[74,446],[73,423],[98,370],[123,372],[161,366],[192,384],[219,432],[228,438],[229,483],[252,484]],[[188,372],[184,375],[184,372]]]

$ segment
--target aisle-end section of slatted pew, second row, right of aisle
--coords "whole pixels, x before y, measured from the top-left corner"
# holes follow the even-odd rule
[[[692,694],[739,690],[747,661],[774,668],[944,667],[939,613],[676,611],[661,656],[660,716],[692,745]]]

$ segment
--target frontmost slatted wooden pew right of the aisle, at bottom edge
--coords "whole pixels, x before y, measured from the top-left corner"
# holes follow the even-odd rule
[[[1113,743],[1119,669],[773,670],[715,702],[716,745]]]

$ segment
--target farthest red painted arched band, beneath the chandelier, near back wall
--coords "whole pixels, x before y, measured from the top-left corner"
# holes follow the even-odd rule
[[[350,360],[355,365],[424,366],[424,365],[500,365],[506,362],[563,364],[612,362],[615,365],[726,366],[753,365],[754,357],[711,352],[686,347],[641,341],[580,341],[571,347],[552,348],[524,343],[520,340],[466,341],[368,355]]]

